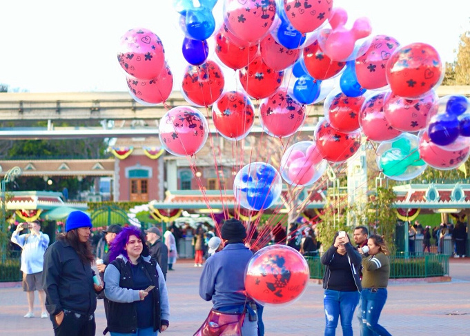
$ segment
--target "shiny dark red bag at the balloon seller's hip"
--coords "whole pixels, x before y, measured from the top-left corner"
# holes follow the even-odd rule
[[[193,336],[242,336],[243,313],[225,313],[214,308]]]

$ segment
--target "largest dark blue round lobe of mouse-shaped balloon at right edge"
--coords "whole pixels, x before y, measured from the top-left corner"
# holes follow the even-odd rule
[[[429,139],[439,146],[452,144],[459,134],[460,125],[455,115],[448,115],[447,113],[436,115],[428,126]]]

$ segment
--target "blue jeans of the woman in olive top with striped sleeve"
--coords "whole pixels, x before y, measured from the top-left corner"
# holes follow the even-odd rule
[[[376,333],[381,336],[391,336],[383,326],[378,324],[380,313],[385,306],[387,297],[386,288],[363,288],[362,299],[362,323],[366,328],[363,336],[371,336]]]

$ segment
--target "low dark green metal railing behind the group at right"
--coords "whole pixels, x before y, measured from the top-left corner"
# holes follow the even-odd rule
[[[390,279],[442,277],[449,275],[449,255],[397,253],[390,257]],[[305,257],[311,279],[323,279],[320,257]]]

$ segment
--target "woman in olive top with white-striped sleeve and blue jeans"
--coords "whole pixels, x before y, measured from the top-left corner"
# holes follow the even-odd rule
[[[380,235],[371,235],[367,241],[369,255],[362,257],[362,336],[391,334],[380,324],[379,318],[384,308],[390,277],[389,249]]]

